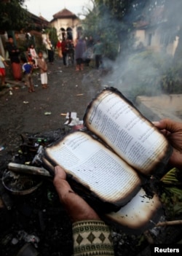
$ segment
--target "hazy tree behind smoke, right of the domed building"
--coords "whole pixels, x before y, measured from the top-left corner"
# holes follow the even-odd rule
[[[130,31],[141,15],[146,2],[141,0],[93,0],[93,9],[84,20],[87,34],[100,36],[106,44],[106,55],[113,58],[117,53],[127,55],[133,39]]]

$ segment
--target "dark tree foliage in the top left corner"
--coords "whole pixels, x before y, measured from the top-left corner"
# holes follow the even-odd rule
[[[0,8],[0,30],[20,30],[25,28],[28,12],[23,9],[24,0],[2,0]]]

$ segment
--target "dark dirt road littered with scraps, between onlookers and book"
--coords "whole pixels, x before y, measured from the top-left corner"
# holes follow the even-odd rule
[[[75,71],[74,66],[63,66],[58,59],[48,63],[49,88],[41,88],[39,74],[33,76],[33,81],[35,93],[28,93],[23,83],[0,92],[0,146],[4,147],[0,151],[1,167],[18,150],[21,133],[63,128],[66,117],[60,114],[66,112],[77,112],[82,120],[87,104],[101,89],[98,71],[92,67]]]

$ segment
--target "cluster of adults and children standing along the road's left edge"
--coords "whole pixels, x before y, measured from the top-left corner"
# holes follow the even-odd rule
[[[28,88],[29,93],[35,91],[33,85],[32,74],[33,70],[39,69],[41,76],[42,88],[47,88],[47,61],[43,57],[43,53],[39,51],[36,53],[36,49],[33,44],[31,44],[24,55],[20,55],[20,50],[16,46],[12,36],[8,37],[8,42],[6,45],[6,50],[9,55],[10,65],[4,60],[0,55],[0,77],[1,85],[5,85],[6,70],[5,66],[9,66],[12,69],[12,75],[16,82],[22,81],[24,79],[25,85]]]

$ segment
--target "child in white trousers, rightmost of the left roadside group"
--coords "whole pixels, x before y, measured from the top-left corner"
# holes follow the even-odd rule
[[[47,63],[43,57],[43,53],[40,51],[38,53],[39,58],[37,59],[37,64],[40,69],[41,74],[41,86],[43,89],[47,88]]]

